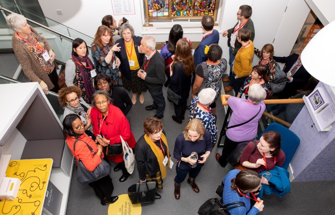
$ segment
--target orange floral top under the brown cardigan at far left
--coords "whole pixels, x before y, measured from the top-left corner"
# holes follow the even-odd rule
[[[37,37],[34,37],[32,33],[28,34],[27,39],[17,38],[17,40],[22,42],[22,44],[24,44],[27,49],[33,53],[33,56],[39,62],[39,64],[41,64],[47,74],[50,74],[54,70],[55,64],[50,62],[50,60],[45,61],[42,56],[44,52],[49,52],[45,49],[44,43],[41,40],[39,40]]]

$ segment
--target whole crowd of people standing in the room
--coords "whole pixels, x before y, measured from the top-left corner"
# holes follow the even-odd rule
[[[229,61],[222,58],[223,48],[218,45],[219,32],[213,29],[212,16],[205,15],[201,19],[204,35],[194,54],[191,41],[183,37],[183,29],[178,24],[172,27],[168,42],[159,47],[159,52],[154,37],[136,36],[134,28],[125,19],[116,26],[111,15],[104,16],[91,44],[93,61],[88,56],[86,42],[81,38],[73,40],[71,58],[65,67],[66,87],[62,89],[58,87],[55,54],[45,38],[29,26],[22,15],[10,14],[6,21],[14,31],[13,50],[26,76],[38,82],[43,90],[59,93],[59,102],[65,107],[64,135],[76,161],[82,160],[89,170],[100,164],[100,158],[117,163],[113,171],[122,170],[121,183],[131,174],[123,155],[107,154],[107,146],[121,143],[122,138],[134,149],[139,183],[156,182],[158,189],[163,189],[166,166],[171,157],[160,120],[164,117],[167,97],[163,86],[180,96],[179,101],[174,102],[175,115],[171,116],[176,123],[185,120],[191,91],[190,111],[186,113],[188,123],[176,137],[173,149],[173,157],[178,161],[174,178],[175,199],[181,197],[180,186],[187,175],[187,183],[196,193],[200,191],[196,177],[217,142],[216,100],[222,81],[229,82],[224,90],[234,90],[236,97],[228,99],[233,110],[228,126],[240,126],[227,130],[222,154],[216,154],[215,158],[225,167],[234,148],[241,142],[250,142],[240,157],[242,170],[232,170],[223,179],[226,184],[223,204],[244,202],[245,207],[236,207],[230,213],[242,215],[248,212],[251,215],[264,207],[254,192],[257,194],[262,184],[269,185],[259,173],[274,166],[281,167],[285,160],[278,133],[264,133],[260,141],[253,142],[258,121],[265,111],[263,100],[271,96],[269,83],[277,81],[276,61],[287,63],[283,69],[287,77],[280,98],[292,96],[310,77],[299,55],[280,58],[273,56],[271,44],[266,44],[262,50],[254,47],[251,15],[252,8],[241,5],[237,11],[237,24],[222,34],[229,38]],[[256,66],[252,65],[254,55],[260,59]],[[223,78],[228,65],[229,77]],[[118,86],[121,80],[123,88]],[[144,103],[143,93],[146,91],[152,97],[152,105],[146,106],[145,110],[156,110],[156,113],[144,121],[144,134],[136,141],[129,112],[136,103],[137,94],[139,102]],[[82,141],[77,143],[74,151],[73,144],[77,139]],[[198,158],[192,159],[195,154]],[[102,205],[117,201],[117,196],[111,196],[113,184],[109,176],[90,183],[90,186]],[[161,196],[156,193],[155,198]],[[251,203],[249,198],[255,201]]]

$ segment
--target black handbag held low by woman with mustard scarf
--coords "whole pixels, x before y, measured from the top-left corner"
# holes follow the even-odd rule
[[[139,191],[140,186],[143,185],[144,183],[139,183],[137,190],[136,190],[136,184],[133,184],[128,188],[128,196],[132,204],[150,203],[155,201],[155,193],[157,190],[157,186],[155,186],[155,188],[153,189],[149,189],[148,184],[145,183],[146,190]]]

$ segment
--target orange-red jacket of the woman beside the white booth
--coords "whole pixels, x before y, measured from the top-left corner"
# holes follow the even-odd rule
[[[91,137],[87,136],[85,133],[81,135],[78,139],[81,139],[85,141],[88,145],[90,145],[94,150],[94,152],[96,153],[98,152],[97,144],[92,140]],[[74,137],[67,136],[67,146],[68,148],[70,148],[71,154],[74,157],[78,157],[81,160],[81,162],[83,162],[86,169],[92,172],[101,163],[100,156],[93,155],[83,141],[77,141],[77,143],[75,144],[76,155],[74,155],[73,152],[74,141],[76,141]],[[101,158],[103,158],[103,154],[101,154]],[[77,159],[75,160],[77,162]]]

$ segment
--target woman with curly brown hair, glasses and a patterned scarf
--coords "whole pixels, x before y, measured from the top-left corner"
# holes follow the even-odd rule
[[[62,88],[58,92],[59,103],[65,107],[63,119],[69,114],[79,115],[80,120],[84,123],[85,133],[95,140],[93,127],[91,124],[91,105],[87,104],[81,97],[82,92],[76,86]]]

